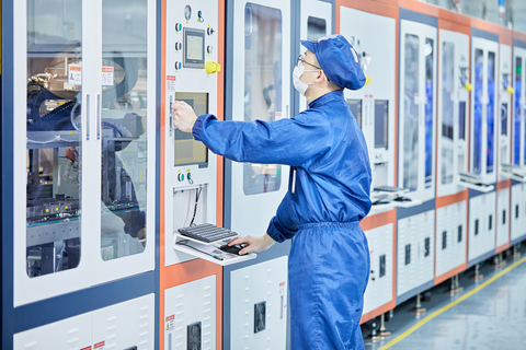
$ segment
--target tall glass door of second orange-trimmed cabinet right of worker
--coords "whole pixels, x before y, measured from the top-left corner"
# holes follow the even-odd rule
[[[455,131],[455,44],[442,44],[442,132],[441,132],[441,184],[451,184],[454,180],[454,131]]]

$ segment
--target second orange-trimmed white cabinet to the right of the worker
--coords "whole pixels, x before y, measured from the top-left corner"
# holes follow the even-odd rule
[[[468,168],[467,113],[469,110],[469,27],[459,32],[444,28],[439,36],[438,152],[436,183],[435,283],[466,268],[466,187],[458,185],[459,173]]]

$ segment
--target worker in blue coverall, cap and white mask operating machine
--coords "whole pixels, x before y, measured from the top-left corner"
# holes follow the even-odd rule
[[[240,254],[295,237],[288,260],[295,350],[364,349],[359,318],[369,250],[359,221],[369,212],[370,166],[364,135],[343,96],[365,77],[341,35],[302,40],[295,88],[309,109],[273,122],[196,117],[175,102],[173,124],[214,153],[237,162],[291,166],[288,191],[263,237],[245,236]]]

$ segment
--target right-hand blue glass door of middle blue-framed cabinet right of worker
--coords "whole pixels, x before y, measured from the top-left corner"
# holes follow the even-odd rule
[[[493,173],[493,166],[495,163],[495,106],[498,103],[498,95],[496,95],[496,60],[495,60],[495,52],[489,51],[488,52],[488,105],[487,105],[487,164],[485,164],[485,173],[491,174]]]

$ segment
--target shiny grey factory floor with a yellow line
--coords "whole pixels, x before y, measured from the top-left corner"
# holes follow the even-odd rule
[[[415,298],[397,306],[385,323],[391,335],[377,341],[365,339],[365,348],[526,349],[526,249],[521,250],[521,258],[510,254],[503,267],[493,266],[492,260],[482,264],[480,281],[471,278],[473,268],[465,271],[459,278],[464,291],[456,295],[447,293],[449,282],[433,288],[431,299],[422,301],[424,314],[410,312]]]

